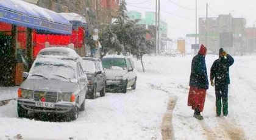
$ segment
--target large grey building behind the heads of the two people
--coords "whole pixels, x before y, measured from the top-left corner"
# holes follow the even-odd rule
[[[223,47],[232,55],[245,52],[246,19],[232,15],[219,15],[216,18],[199,18],[199,44],[206,44],[208,52],[218,54]]]

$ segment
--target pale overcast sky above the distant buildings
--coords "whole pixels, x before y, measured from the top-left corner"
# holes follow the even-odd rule
[[[126,0],[127,10],[137,12],[155,12],[156,0]],[[252,27],[256,21],[256,1],[252,0],[197,0],[197,18],[229,13],[233,18],[246,18],[247,27]],[[196,32],[196,0],[160,0],[160,15],[162,21],[168,23],[168,37],[185,37]],[[198,22],[197,22],[198,33]]]

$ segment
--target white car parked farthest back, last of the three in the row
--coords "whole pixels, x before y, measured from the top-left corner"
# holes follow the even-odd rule
[[[102,57],[107,80],[106,90],[126,93],[127,88],[136,89],[137,70],[132,58],[123,55],[105,55]]]

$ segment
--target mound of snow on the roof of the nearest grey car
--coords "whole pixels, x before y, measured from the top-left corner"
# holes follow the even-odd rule
[[[46,47],[44,49],[41,49],[41,51],[38,53],[37,56],[48,55],[49,57],[55,57],[55,58],[79,58],[80,56],[74,51],[74,49],[71,49],[69,47]]]

